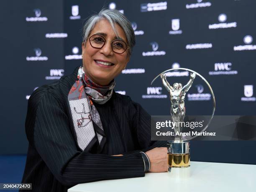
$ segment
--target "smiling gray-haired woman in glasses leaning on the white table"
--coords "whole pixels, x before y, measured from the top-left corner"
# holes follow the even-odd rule
[[[82,66],[28,101],[22,182],[36,192],[167,171],[166,143],[151,141],[150,116],[113,90],[135,44],[131,24],[102,10],[87,20],[83,40]]]

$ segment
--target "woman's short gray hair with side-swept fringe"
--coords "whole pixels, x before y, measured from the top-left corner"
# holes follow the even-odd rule
[[[118,10],[102,9],[100,13],[98,13],[97,15],[90,16],[90,18],[86,21],[83,27],[83,41],[84,42],[87,41],[87,37],[89,36],[90,32],[94,28],[95,24],[101,19],[108,20],[116,36],[119,36],[119,35],[115,28],[115,24],[118,24],[121,28],[123,28],[123,31],[125,32],[125,35],[128,41],[128,46],[129,46],[128,55],[131,55],[133,46],[135,45],[135,42],[136,42],[135,34],[129,20]]]

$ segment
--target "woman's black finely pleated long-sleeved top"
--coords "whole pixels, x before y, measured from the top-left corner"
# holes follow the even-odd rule
[[[28,100],[26,135],[29,141],[22,183],[35,192],[67,192],[84,182],[143,177],[140,151],[166,146],[151,141],[151,117],[130,97],[113,92],[104,105],[95,103],[106,134],[101,154],[97,146],[82,151],[76,139],[68,93],[77,79],[71,75],[39,87]],[[123,156],[111,156],[124,154]]]

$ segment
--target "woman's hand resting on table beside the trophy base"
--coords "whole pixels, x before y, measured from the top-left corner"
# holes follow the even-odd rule
[[[149,172],[167,172],[167,147],[156,147],[146,152],[150,161]]]

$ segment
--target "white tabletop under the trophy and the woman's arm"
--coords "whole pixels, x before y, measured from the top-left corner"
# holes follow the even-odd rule
[[[256,192],[256,165],[191,162],[191,177],[168,173],[77,184],[68,192]]]

